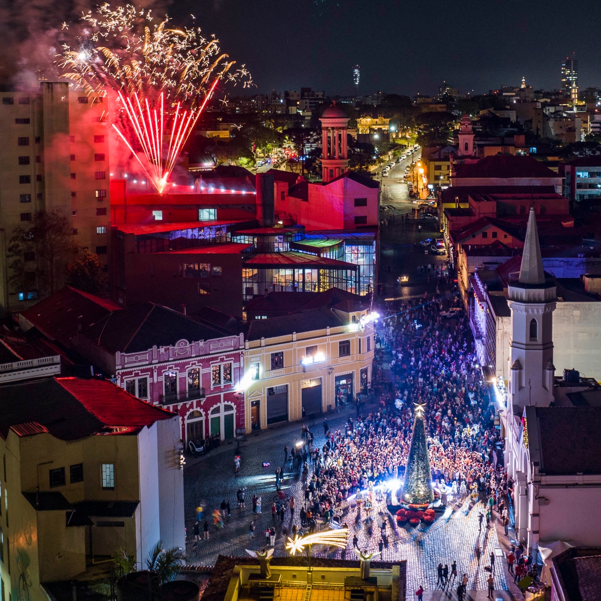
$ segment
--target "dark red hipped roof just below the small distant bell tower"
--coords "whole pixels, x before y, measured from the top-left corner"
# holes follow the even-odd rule
[[[498,154],[487,156],[471,165],[459,164],[453,180],[464,178],[530,178],[548,177],[558,178],[561,175],[551,171],[540,161],[529,156],[513,156],[511,154]]]

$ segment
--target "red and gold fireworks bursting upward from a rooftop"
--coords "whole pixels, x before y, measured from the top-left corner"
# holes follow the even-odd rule
[[[82,16],[79,48],[64,46],[63,76],[88,95],[117,94],[118,136],[162,192],[175,161],[219,81],[251,85],[242,65],[219,49],[200,28],[175,29],[169,18],[132,5],[103,4]],[[145,161],[138,156],[139,146]]]

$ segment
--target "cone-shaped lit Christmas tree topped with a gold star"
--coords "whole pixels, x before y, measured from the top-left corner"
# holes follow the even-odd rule
[[[432,473],[426,442],[426,423],[424,423],[424,405],[415,403],[415,422],[413,437],[405,468],[403,501],[410,505],[429,505],[434,501]]]

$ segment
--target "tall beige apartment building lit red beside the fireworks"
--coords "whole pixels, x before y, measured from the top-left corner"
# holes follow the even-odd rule
[[[78,251],[104,259],[109,229],[108,99],[86,96],[63,82],[39,90],[0,91],[0,314],[24,310],[43,291],[32,283],[13,289],[8,245],[17,227],[30,227],[39,212],[58,210],[72,224]],[[73,259],[76,255],[73,256]],[[56,286],[64,281],[64,258]],[[25,273],[39,257],[27,252]],[[35,278],[31,278],[35,282]]]

